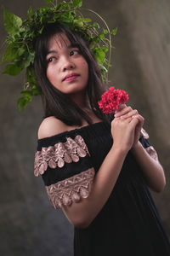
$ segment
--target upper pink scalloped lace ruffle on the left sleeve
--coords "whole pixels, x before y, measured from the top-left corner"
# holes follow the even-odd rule
[[[48,148],[42,147],[35,155],[34,175],[42,175],[48,168],[63,167],[66,163],[78,162],[79,157],[90,155],[88,147],[80,135],[74,139],[66,138],[65,143],[56,143]]]

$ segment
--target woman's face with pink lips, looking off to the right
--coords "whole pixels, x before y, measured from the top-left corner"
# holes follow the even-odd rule
[[[69,95],[86,90],[88,63],[65,33],[49,40],[46,61],[48,80],[56,89]]]

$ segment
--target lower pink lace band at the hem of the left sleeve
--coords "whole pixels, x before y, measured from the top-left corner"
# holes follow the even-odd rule
[[[81,198],[87,198],[94,180],[94,168],[81,172],[63,181],[46,186],[49,200],[54,208],[71,206],[72,202],[78,202]]]

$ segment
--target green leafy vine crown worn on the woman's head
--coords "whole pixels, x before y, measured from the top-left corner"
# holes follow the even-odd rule
[[[108,70],[111,67],[111,36],[116,35],[117,28],[110,31],[105,20],[91,9],[82,8],[82,0],[63,1],[59,4],[53,0],[46,0],[51,7],[44,6],[33,13],[28,9],[26,20],[21,20],[19,16],[3,9],[4,26],[8,36],[2,63],[8,62],[3,73],[9,75],[18,75],[26,68],[26,83],[21,90],[21,97],[17,104],[20,110],[26,108],[27,103],[31,102],[32,96],[41,95],[42,91],[37,85],[37,79],[34,72],[34,42],[42,33],[44,26],[48,23],[59,21],[59,24],[70,27],[77,32],[87,43],[89,49],[94,53],[101,70],[103,81],[108,80]],[[84,18],[82,10],[88,10],[97,15],[104,23],[105,29],[99,29],[97,22]],[[106,52],[109,52],[107,59]]]

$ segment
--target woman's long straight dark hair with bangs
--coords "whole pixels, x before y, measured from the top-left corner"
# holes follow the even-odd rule
[[[99,119],[105,119],[105,115],[99,109],[98,105],[98,101],[104,92],[105,87],[102,83],[99,66],[94,60],[94,55],[88,48],[86,42],[77,34],[77,32],[73,32],[69,27],[59,25],[59,23],[48,24],[43,29],[41,36],[37,38],[35,44],[36,55],[34,68],[37,75],[37,82],[42,90],[44,118],[48,116],[54,116],[57,119],[63,121],[66,125],[81,126],[82,118],[85,119],[88,124],[92,123],[91,119],[88,117],[88,114],[79,108],[77,104],[71,100],[69,95],[66,95],[63,92],[57,90],[48,81],[46,74],[46,55],[48,53],[48,42],[50,38],[60,32],[65,33],[71,44],[77,45],[80,53],[88,62],[88,100],[95,115],[99,117]]]

